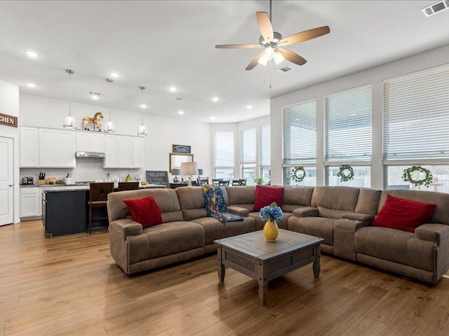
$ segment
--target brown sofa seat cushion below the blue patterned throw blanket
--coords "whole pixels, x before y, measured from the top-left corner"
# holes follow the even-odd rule
[[[213,241],[216,239],[253,232],[255,228],[253,217],[245,217],[243,218],[243,221],[227,222],[226,225],[213,217],[195,218],[192,222],[203,226],[205,232],[204,241],[206,245],[213,244]]]

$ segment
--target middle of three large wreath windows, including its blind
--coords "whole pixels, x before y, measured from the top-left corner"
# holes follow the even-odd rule
[[[370,187],[371,85],[327,95],[324,110],[327,185]],[[354,166],[354,179],[341,182],[340,165]]]

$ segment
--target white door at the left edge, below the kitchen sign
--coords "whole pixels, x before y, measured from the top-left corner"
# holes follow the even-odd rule
[[[0,225],[13,223],[13,139],[0,137]]]

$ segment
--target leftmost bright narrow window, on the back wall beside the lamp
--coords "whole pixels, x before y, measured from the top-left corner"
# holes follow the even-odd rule
[[[214,133],[214,172],[216,179],[234,178],[234,132]]]

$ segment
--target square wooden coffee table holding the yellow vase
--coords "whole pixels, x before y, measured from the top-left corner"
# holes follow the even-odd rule
[[[218,278],[225,281],[225,267],[231,267],[257,280],[263,306],[267,303],[268,281],[311,262],[314,276],[319,277],[321,241],[319,237],[281,229],[276,241],[267,241],[262,231],[215,240]]]

